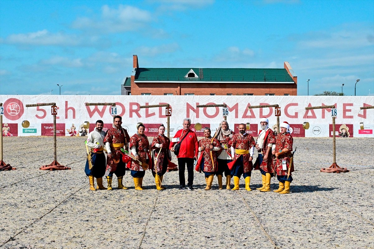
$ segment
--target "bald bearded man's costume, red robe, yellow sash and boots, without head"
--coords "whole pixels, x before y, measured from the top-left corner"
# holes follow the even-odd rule
[[[249,161],[249,157],[253,157],[255,140],[248,133],[235,134],[231,138],[229,145],[231,145],[231,155],[233,162],[229,163],[229,167],[232,167],[234,176],[234,188],[232,190],[239,190],[240,176],[243,174],[245,179],[245,189],[251,191],[249,183],[251,181],[251,172],[253,169],[252,161]]]

